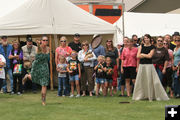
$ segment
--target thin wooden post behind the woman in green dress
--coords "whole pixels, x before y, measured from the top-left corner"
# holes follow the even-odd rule
[[[53,64],[52,64],[52,35],[49,35],[49,48],[50,48],[50,87],[54,90],[53,85]]]

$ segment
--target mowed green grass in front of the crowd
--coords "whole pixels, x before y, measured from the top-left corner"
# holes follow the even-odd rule
[[[22,96],[0,94],[0,120],[164,120],[169,101],[132,101],[125,97],[57,97],[48,91],[47,105],[41,105],[40,92]],[[120,102],[130,102],[122,104]]]

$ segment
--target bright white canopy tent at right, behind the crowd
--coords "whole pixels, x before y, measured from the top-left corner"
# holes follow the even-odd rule
[[[179,14],[157,14],[157,13],[124,13],[124,35],[130,37],[133,34],[142,37],[144,34],[151,36],[172,35],[175,31],[180,32]],[[114,23],[118,28],[117,43],[123,42],[122,17]],[[116,44],[117,44],[116,43]]]

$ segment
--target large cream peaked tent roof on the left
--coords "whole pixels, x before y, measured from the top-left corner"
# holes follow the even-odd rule
[[[68,0],[26,0],[0,18],[0,35],[114,34],[115,28]]]

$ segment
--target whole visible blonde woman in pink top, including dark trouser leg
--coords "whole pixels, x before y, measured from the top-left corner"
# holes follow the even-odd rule
[[[57,68],[57,65],[59,64],[60,56],[64,56],[66,58],[66,61],[67,62],[69,61],[72,49],[69,46],[67,46],[66,41],[67,41],[67,38],[65,36],[62,36],[60,38],[60,46],[58,48],[56,48],[56,53],[55,53],[56,68]],[[69,85],[69,76],[68,76],[68,74],[66,76],[66,79],[67,79],[66,80],[66,85],[67,85],[67,87],[66,87],[66,95],[69,95],[70,94],[70,85]]]

